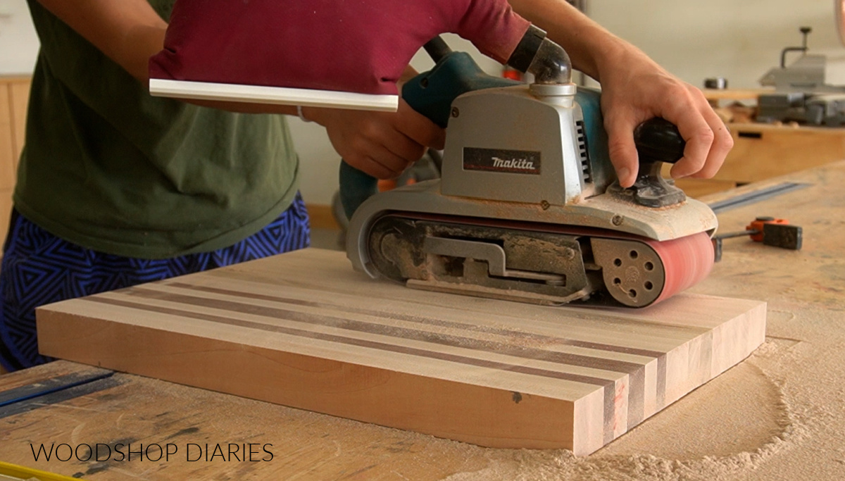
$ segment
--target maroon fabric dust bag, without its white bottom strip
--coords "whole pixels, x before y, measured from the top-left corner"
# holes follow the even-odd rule
[[[529,25],[506,0],[177,0],[150,77],[395,94],[434,36],[504,63]]]

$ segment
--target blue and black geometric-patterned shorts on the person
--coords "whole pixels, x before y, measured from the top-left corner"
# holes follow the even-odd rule
[[[0,268],[0,364],[14,371],[52,360],[38,353],[38,306],[303,249],[309,242],[308,212],[299,194],[275,221],[239,243],[162,260],[79,247],[14,210]]]

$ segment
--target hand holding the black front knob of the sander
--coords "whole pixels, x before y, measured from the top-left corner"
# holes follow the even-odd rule
[[[722,167],[733,138],[701,90],[633,46],[608,54],[598,68],[610,160],[623,187],[634,184],[639,167],[634,128],[653,117],[677,125],[686,140],[684,157],[672,167],[673,178],[711,178]]]

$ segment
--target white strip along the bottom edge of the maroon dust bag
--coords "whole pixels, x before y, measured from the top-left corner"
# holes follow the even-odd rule
[[[194,100],[349,108],[381,112],[396,112],[399,107],[399,96],[170,79],[150,79],[150,95]]]

